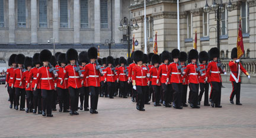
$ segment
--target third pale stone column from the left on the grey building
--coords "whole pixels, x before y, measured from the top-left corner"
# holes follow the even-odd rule
[[[53,0],[53,38],[59,43],[59,0]]]

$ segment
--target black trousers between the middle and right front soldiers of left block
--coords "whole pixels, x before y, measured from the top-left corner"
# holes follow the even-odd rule
[[[84,106],[84,108],[88,108],[89,107],[89,87],[88,86],[82,86],[82,88],[80,88],[79,97],[80,97],[81,106]]]

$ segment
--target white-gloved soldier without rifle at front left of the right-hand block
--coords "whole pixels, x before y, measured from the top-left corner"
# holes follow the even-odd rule
[[[145,94],[148,86],[148,69],[146,66],[142,65],[143,52],[140,50],[135,51],[133,54],[133,60],[137,63],[137,66],[134,66],[132,69],[132,84],[133,89],[137,90],[137,110],[145,111]]]

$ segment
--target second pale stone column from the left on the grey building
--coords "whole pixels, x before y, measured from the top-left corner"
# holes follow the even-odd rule
[[[31,0],[31,44],[37,44],[37,0]]]

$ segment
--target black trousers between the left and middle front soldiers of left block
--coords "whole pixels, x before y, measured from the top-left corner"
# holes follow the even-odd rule
[[[63,110],[69,109],[69,91],[68,89],[57,88],[59,107]]]

